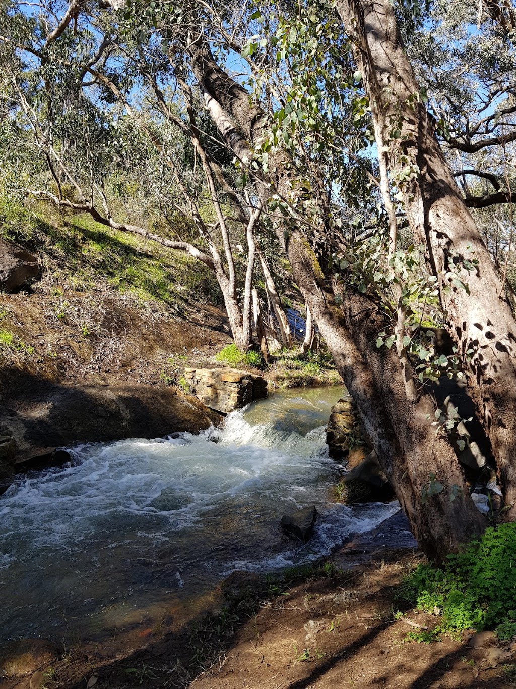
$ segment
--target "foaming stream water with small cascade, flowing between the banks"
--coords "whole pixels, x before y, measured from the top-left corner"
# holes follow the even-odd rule
[[[275,393],[222,431],[87,444],[74,462],[0,497],[0,636],[100,638],[155,624],[235,569],[264,573],[330,553],[397,504],[328,500],[343,473],[324,425],[341,388]],[[315,504],[306,546],[281,515]]]

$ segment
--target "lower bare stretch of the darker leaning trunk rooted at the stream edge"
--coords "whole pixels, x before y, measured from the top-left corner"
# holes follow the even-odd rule
[[[409,400],[396,349],[376,347],[385,320],[374,302],[348,290],[342,312],[325,291],[306,239],[290,235],[286,251],[297,285],[356,402],[364,434],[422,550],[437,561],[458,551],[486,524],[471,500],[453,447],[429,424],[435,411],[432,400],[424,395]]]

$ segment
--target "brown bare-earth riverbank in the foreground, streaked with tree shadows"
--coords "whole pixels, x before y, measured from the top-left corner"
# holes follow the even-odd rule
[[[411,549],[369,553],[339,570],[335,560],[361,550],[348,542],[320,566],[286,570],[260,581],[237,573],[220,586],[202,617],[175,632],[163,626],[122,633],[104,644],[61,652],[34,642],[6,663],[25,674],[6,689],[133,686],[172,689],[508,689],[516,666],[508,644],[472,648],[469,635],[418,643],[438,624],[403,604],[397,588],[422,556]],[[362,553],[365,555],[365,553]],[[123,643],[122,643],[123,640]],[[480,642],[479,642],[480,643]],[[474,644],[478,645],[478,644]],[[63,652],[64,651],[64,652]]]

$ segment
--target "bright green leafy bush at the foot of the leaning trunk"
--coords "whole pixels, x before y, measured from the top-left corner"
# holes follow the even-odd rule
[[[444,632],[494,629],[499,639],[516,635],[516,524],[487,528],[442,568],[420,565],[402,583],[401,597],[442,613]]]

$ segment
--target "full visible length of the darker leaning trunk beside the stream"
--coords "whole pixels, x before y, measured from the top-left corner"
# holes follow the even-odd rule
[[[188,49],[205,100],[208,94],[211,101],[208,110],[215,125],[235,155],[250,161],[250,146],[238,129],[256,144],[264,133],[263,114],[252,106],[247,92],[220,70],[202,39],[190,43]],[[238,127],[230,125],[229,116]],[[290,176],[284,162],[280,154],[272,164],[270,161],[275,176],[263,184],[258,180],[262,205],[274,189],[281,196],[290,196]],[[436,436],[429,424],[428,415],[433,415],[435,409],[431,400],[407,399],[395,349],[374,351],[383,324],[369,300],[360,294],[352,295],[343,313],[325,291],[321,267],[305,237],[281,224],[277,235],[294,279],[357,404],[365,435],[372,440],[418,542],[433,559],[457,551],[471,535],[482,531],[484,519],[466,489],[449,441]],[[440,491],[436,483],[432,484],[434,480],[443,486]],[[425,491],[431,495],[428,500],[422,499]],[[450,499],[452,494],[456,495],[454,500]]]

